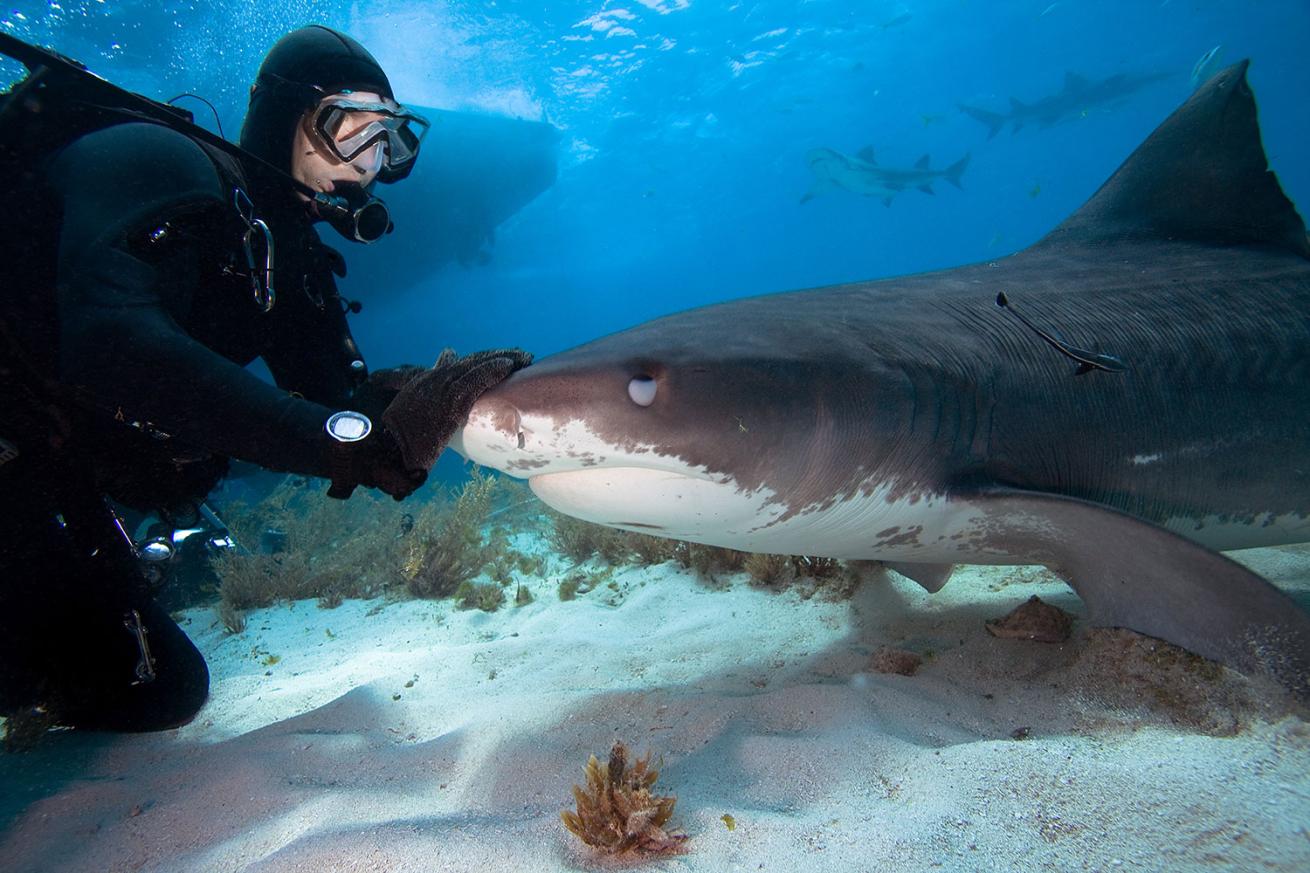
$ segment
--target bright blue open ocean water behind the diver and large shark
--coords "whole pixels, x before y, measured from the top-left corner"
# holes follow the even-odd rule
[[[403,261],[426,240],[411,222],[343,282],[365,304],[354,325],[375,368],[445,345],[548,354],[715,300],[1015,252],[1186,100],[1214,46],[1225,63],[1252,60],[1271,164],[1310,204],[1305,0],[20,0],[4,12],[8,33],[119,84],[208,97],[229,138],[263,51],[312,21],[360,38],[402,101],[554,125],[558,178],[499,228],[486,263],[415,273]],[[1163,79],[990,139],[958,109],[1006,111],[1011,97],[1057,93],[1068,72]],[[210,123],[203,109],[198,119]],[[800,203],[810,149],[866,146],[889,166],[969,155],[963,190]]]

